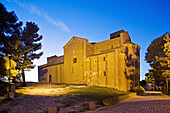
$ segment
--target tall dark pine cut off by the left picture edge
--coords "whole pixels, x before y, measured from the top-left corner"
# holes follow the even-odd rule
[[[11,54],[11,51],[8,51],[6,48],[11,46],[10,42],[12,40],[11,36],[14,31],[19,29],[22,26],[22,22],[18,22],[18,18],[15,13],[8,12],[3,4],[0,3],[0,78],[4,79],[4,76],[7,76],[5,73],[7,70],[5,68],[5,59],[8,54]]]

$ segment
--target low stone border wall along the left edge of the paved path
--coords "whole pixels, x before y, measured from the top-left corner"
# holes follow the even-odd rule
[[[106,105],[106,106],[111,106],[111,105],[122,102],[122,101],[124,101],[128,98],[134,97],[134,96],[136,96],[136,93],[123,95],[123,96],[119,96],[119,97],[114,97],[114,98],[111,98],[111,99],[106,99],[106,100],[103,101],[103,104]]]

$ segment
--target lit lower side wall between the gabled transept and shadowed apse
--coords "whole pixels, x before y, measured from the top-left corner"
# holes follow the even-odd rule
[[[89,85],[112,87],[122,91],[130,89],[125,76],[125,53],[108,52],[86,59],[86,81]]]

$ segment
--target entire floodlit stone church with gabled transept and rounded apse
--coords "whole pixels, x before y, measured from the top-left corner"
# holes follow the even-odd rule
[[[63,56],[47,58],[38,66],[39,83],[87,84],[129,91],[139,86],[140,46],[127,31],[110,34],[110,39],[90,43],[73,36],[63,47]]]

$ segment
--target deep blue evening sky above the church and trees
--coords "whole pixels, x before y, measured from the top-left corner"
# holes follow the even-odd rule
[[[169,0],[1,0],[20,21],[35,22],[43,35],[43,56],[35,60],[35,69],[26,73],[26,81],[38,81],[37,66],[47,57],[63,55],[63,46],[78,36],[89,42],[109,39],[109,34],[124,29],[132,42],[141,47],[140,79],[149,65],[144,61],[151,41],[170,29]]]

